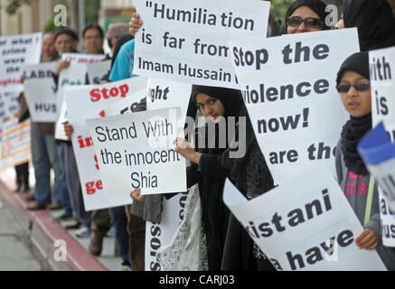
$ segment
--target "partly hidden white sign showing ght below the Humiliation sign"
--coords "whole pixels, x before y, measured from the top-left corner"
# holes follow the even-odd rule
[[[149,79],[146,94],[146,109],[154,110],[167,107],[181,107],[181,113],[183,117],[186,117],[191,93],[191,84],[165,79]]]

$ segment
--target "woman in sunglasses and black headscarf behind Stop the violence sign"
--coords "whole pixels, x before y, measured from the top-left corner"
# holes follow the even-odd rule
[[[287,11],[287,34],[329,30],[325,24],[328,13],[321,0],[296,0]]]

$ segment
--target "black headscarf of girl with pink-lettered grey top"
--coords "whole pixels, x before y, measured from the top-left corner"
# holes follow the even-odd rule
[[[369,74],[369,53],[357,52],[347,58],[339,72],[337,73],[337,84],[340,83],[345,71],[355,71],[362,75],[365,79],[370,79]],[[342,150],[344,163],[347,168],[357,174],[368,174],[361,155],[357,151],[357,145],[371,129],[371,114],[362,117],[351,117],[351,119],[343,126],[342,131]]]

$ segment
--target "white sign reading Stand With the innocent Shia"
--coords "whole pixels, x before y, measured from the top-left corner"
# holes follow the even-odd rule
[[[183,136],[179,107],[87,121],[105,189],[113,196],[186,191],[185,159],[174,152]]]

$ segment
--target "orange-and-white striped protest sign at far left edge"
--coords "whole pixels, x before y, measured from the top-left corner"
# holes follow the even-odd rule
[[[11,118],[4,122],[1,145],[2,169],[29,162],[32,157],[30,144],[30,120],[18,123]]]

